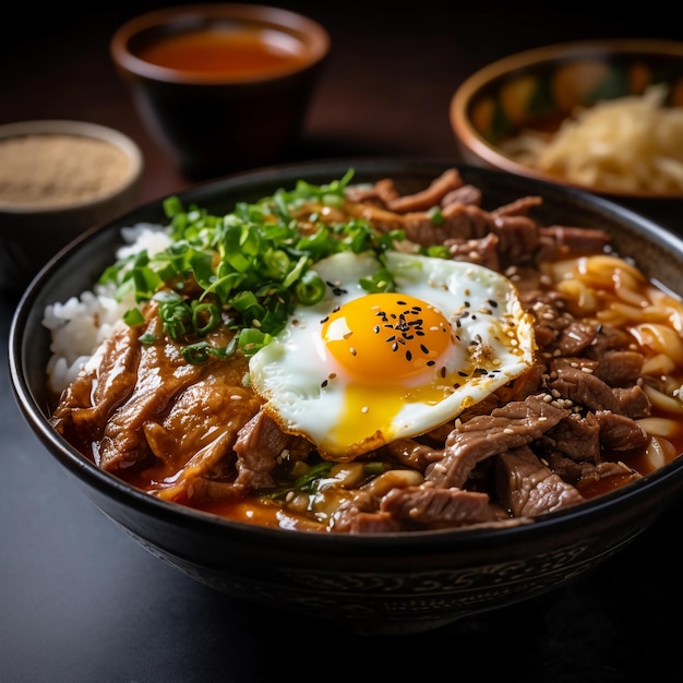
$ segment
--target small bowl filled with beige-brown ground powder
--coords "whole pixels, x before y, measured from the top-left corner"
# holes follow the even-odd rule
[[[0,125],[0,292],[14,296],[60,249],[140,199],[144,158],[86,121]]]

